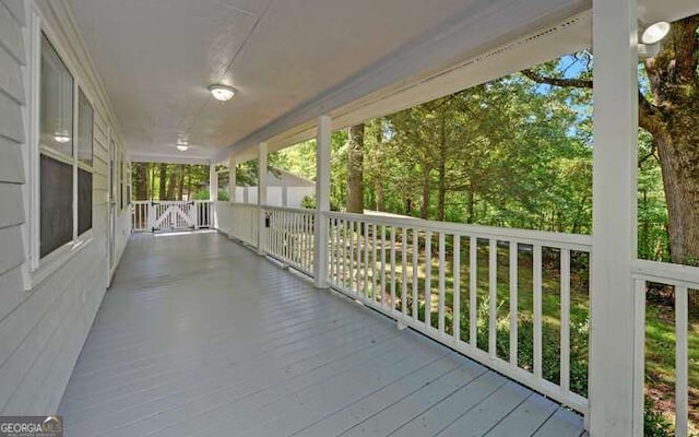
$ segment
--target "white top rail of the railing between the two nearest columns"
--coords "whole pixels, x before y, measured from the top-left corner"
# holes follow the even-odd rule
[[[341,212],[325,212],[324,214],[330,218],[342,218],[380,225],[394,225],[417,229],[438,231],[447,234],[458,234],[490,239],[513,240],[521,244],[543,245],[548,247],[566,247],[572,250],[588,252],[592,250],[592,236],[590,235],[467,225],[462,223],[434,222],[413,217],[403,218]]]

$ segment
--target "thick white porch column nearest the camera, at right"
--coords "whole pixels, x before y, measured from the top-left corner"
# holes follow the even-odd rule
[[[637,1],[593,1],[594,152],[590,434],[633,429],[638,160]]]

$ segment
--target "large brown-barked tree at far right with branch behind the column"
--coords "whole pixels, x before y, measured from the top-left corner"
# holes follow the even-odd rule
[[[663,176],[671,260],[699,258],[699,14],[672,23],[655,57],[642,64],[648,88],[639,88],[639,126],[652,135]],[[588,78],[524,73],[540,83],[592,87]]]

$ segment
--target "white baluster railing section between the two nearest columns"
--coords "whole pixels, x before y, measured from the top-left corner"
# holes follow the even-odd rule
[[[588,262],[589,236],[357,214],[327,213],[327,217],[332,287],[587,413],[587,393],[570,388],[570,287],[571,258]],[[553,253],[558,262],[560,353],[558,363],[546,363],[559,365],[557,380],[546,379],[543,373],[544,252],[547,258]],[[499,262],[507,265],[507,274],[499,272]],[[532,284],[525,291],[533,304],[533,344],[523,345],[533,352],[529,364],[518,355],[522,264],[528,264]],[[505,300],[503,290],[508,308],[498,304]],[[501,323],[509,324],[509,330],[498,329]],[[503,331],[509,339],[502,339]]]

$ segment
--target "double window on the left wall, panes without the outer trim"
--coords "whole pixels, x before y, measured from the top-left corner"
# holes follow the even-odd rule
[[[39,86],[38,231],[44,258],[92,228],[94,110],[44,34]]]

